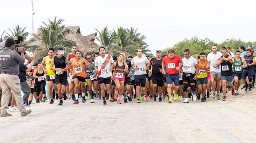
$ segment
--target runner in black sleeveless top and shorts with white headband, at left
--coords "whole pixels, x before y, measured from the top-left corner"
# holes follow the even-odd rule
[[[59,105],[63,104],[62,94],[64,100],[66,100],[66,82],[67,82],[67,72],[66,70],[69,69],[68,60],[64,55],[64,49],[62,47],[58,48],[58,55],[52,58],[52,62],[50,64],[50,69],[56,72],[55,75],[55,82],[58,88],[58,96],[60,103]],[[53,68],[53,64],[55,68]]]

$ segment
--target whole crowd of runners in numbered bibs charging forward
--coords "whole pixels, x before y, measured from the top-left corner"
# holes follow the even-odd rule
[[[189,49],[185,49],[183,55],[175,55],[172,49],[168,55],[162,55],[161,50],[157,50],[153,58],[146,57],[141,48],[135,57],[125,52],[112,56],[105,47],[93,55],[83,55],[76,45],[71,50],[64,55],[62,47],[58,51],[49,48],[48,55],[36,64],[34,57],[25,56],[31,61],[25,68],[30,88],[29,96],[25,97],[25,93],[23,96],[25,106],[31,105],[33,97],[37,103],[54,104],[57,99],[58,105],[65,104],[67,99],[79,104],[79,98],[82,103],[100,99],[103,105],[107,105],[107,101],[121,104],[149,99],[188,103],[192,98],[191,101],[206,102],[210,96],[225,101],[227,91],[238,96],[239,90],[250,92],[254,88],[256,52],[251,45],[247,50],[240,46],[235,53],[230,47],[218,49],[213,45],[212,52],[198,53],[196,58]],[[239,89],[241,80],[244,86]],[[12,99],[9,111],[17,111],[15,105]]]

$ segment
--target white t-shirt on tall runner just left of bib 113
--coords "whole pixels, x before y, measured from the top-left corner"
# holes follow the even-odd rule
[[[218,59],[222,56],[221,52],[217,52],[213,54],[212,52],[208,54],[207,61],[210,62],[210,71],[214,71],[215,73],[220,73],[220,66],[218,67],[216,64],[218,63]]]

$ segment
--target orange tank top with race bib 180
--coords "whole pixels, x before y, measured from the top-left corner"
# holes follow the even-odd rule
[[[85,73],[84,64],[82,62],[82,58],[80,58],[79,60],[75,59],[72,65],[73,65],[73,76],[76,75],[76,76],[86,78],[86,73]]]

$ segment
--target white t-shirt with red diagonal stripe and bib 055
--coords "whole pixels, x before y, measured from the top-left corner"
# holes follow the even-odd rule
[[[109,58],[107,59],[107,57]],[[114,63],[111,55],[106,54],[104,58],[101,56],[96,57],[95,66],[98,67],[98,78],[108,78],[112,75],[110,72],[111,63]],[[103,66],[105,67],[103,68]]]

